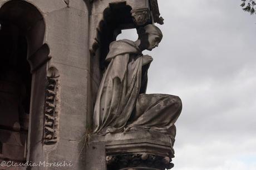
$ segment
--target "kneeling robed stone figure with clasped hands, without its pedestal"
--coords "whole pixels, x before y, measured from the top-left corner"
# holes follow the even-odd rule
[[[158,46],[163,34],[155,25],[138,29],[135,42],[123,39],[110,44],[110,64],[97,94],[93,133],[105,135],[127,131],[155,131],[174,140],[175,121],[181,112],[178,96],[145,94],[151,56],[142,51]],[[174,141],[173,141],[174,142]]]

